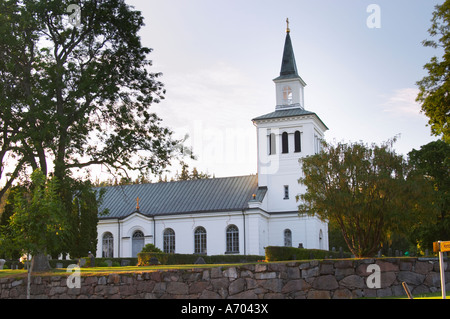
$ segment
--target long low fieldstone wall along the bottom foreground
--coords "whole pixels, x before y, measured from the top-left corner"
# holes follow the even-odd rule
[[[370,265],[376,265],[371,266],[375,272],[368,271]],[[405,295],[402,282],[413,295],[440,291],[438,260],[420,258],[313,260],[81,276],[80,288],[69,288],[67,282],[67,276],[35,275],[32,299],[349,299]],[[26,278],[0,279],[0,298],[26,298],[26,287]]]

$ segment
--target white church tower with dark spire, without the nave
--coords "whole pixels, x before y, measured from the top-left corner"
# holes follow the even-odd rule
[[[320,151],[327,126],[305,109],[305,81],[300,77],[291,41],[286,30],[280,75],[275,83],[275,111],[252,121],[257,130],[258,186],[266,191],[260,207],[267,212],[295,212],[296,196],[304,193],[300,159]]]

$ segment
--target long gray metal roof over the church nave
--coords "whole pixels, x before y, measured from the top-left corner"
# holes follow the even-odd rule
[[[100,219],[124,218],[136,212],[148,216],[233,211],[248,207],[258,190],[257,175],[200,179],[155,184],[109,186],[99,211],[109,210]],[[100,189],[99,188],[99,189]]]

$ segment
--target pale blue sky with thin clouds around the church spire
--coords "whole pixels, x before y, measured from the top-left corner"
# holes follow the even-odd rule
[[[128,0],[142,11],[143,44],[162,72],[154,106],[197,155],[191,167],[220,176],[256,173],[251,119],[275,109],[289,17],[306,109],[329,127],[327,141],[381,143],[401,134],[398,153],[436,140],[415,102],[434,49],[437,0]],[[370,4],[380,28],[369,28]]]

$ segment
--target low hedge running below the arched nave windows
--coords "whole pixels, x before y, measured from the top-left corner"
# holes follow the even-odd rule
[[[207,264],[229,264],[257,262],[264,260],[265,256],[257,255],[194,255],[194,254],[168,254],[168,253],[138,253],[138,266],[150,265],[150,258],[155,257],[161,265],[186,265],[195,264],[199,257],[202,257]]]

